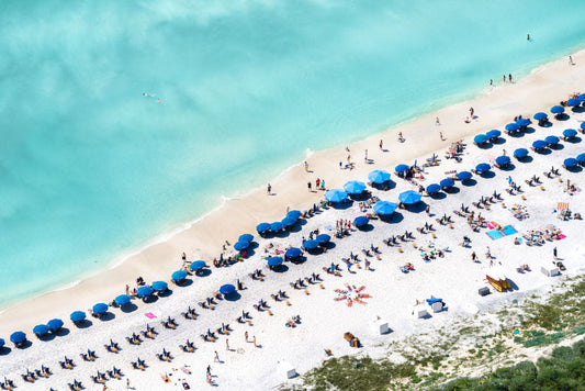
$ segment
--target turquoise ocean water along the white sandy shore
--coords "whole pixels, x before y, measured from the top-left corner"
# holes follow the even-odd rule
[[[584,14],[580,0],[3,0],[0,306],[263,186],[307,148],[567,55]]]

